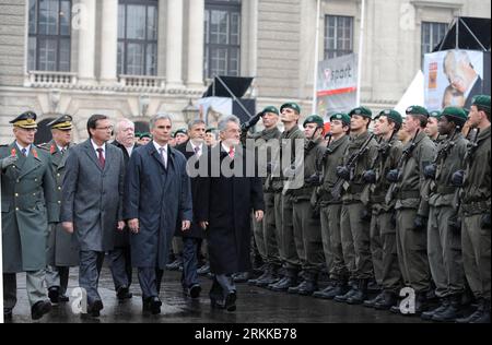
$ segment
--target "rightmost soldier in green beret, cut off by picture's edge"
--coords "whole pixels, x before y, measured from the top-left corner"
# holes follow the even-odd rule
[[[478,129],[466,158],[466,171],[454,176],[454,185],[462,185],[461,245],[465,274],[479,307],[458,323],[490,323],[490,207],[491,207],[491,138],[490,96],[473,98],[468,116],[471,128]],[[464,177],[465,176],[465,177]]]

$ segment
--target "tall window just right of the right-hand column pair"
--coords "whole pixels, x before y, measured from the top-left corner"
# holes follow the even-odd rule
[[[206,0],[204,74],[241,73],[241,0]]]

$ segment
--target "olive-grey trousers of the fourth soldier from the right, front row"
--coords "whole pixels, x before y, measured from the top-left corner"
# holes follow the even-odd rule
[[[371,249],[377,283],[387,292],[399,293],[403,282],[398,265],[396,229],[391,222],[393,215],[394,211],[380,211],[373,214],[371,222]],[[374,242],[379,242],[380,247],[373,247],[373,237],[375,238]]]

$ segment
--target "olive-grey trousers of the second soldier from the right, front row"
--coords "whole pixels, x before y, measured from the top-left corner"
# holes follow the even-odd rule
[[[431,206],[427,229],[427,252],[435,294],[443,298],[465,292],[461,257],[461,231],[449,227],[456,212],[452,206]]]

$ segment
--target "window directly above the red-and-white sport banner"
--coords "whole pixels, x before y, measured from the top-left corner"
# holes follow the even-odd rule
[[[325,59],[353,52],[353,17],[327,15],[325,17]]]

